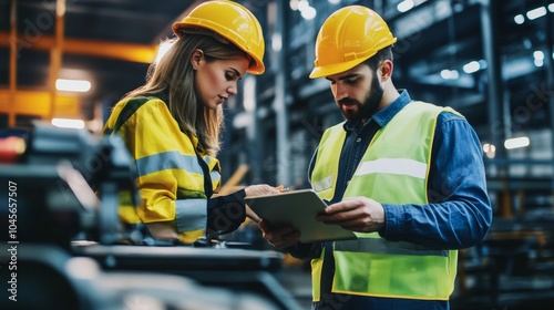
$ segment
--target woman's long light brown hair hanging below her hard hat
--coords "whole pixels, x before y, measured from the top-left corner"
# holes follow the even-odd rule
[[[196,49],[204,52],[206,62],[227,60],[247,54],[219,35],[203,31],[202,34],[184,33],[178,39],[168,40],[172,48],[157,64],[148,68],[146,83],[129,92],[125,99],[147,95],[168,96],[168,108],[181,130],[198,138],[199,153],[216,156],[220,149],[219,133],[223,128],[223,107],[204,107],[195,85],[195,71],[191,56]]]

